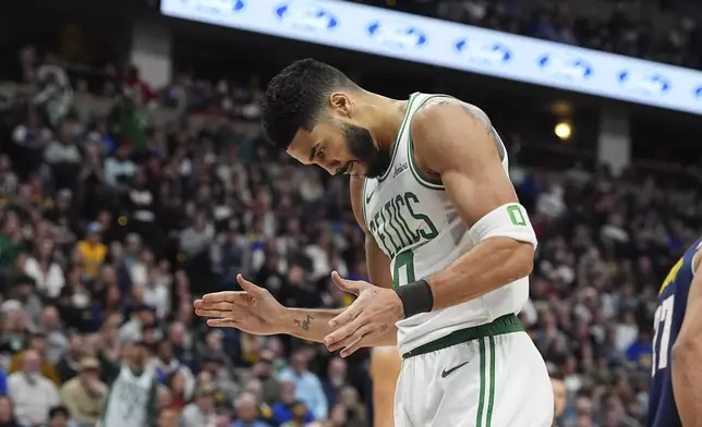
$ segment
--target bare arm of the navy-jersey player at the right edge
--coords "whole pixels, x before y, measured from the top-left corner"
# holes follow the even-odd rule
[[[683,426],[702,423],[702,249],[695,257],[694,279],[685,320],[671,349],[673,393]]]

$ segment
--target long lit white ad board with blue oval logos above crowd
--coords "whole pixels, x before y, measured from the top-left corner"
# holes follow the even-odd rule
[[[330,0],[160,0],[160,4],[168,16],[702,114],[702,71],[402,13],[392,7]]]

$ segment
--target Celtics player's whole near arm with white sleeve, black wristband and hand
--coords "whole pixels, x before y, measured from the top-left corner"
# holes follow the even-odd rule
[[[529,276],[533,267],[536,236],[503,170],[487,117],[436,103],[414,114],[411,132],[417,167],[441,180],[476,244],[443,271],[392,290],[337,283],[359,295],[329,321],[332,332],[325,338],[328,347],[349,345],[346,355],[398,320],[474,300]]]

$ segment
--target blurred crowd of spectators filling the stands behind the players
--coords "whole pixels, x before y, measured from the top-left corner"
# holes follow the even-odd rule
[[[132,68],[96,97],[50,61],[0,111],[0,426],[94,426],[122,363],[154,373],[158,427],[366,426],[367,353],[208,329],[192,308],[239,272],[286,305],[349,304],[329,280],[366,279],[344,180],[263,144],[258,87],[154,91]],[[109,114],[75,113],[106,94]],[[643,425],[657,286],[702,229],[700,194],[518,172],[541,242],[520,316],[565,395],[556,425]]]

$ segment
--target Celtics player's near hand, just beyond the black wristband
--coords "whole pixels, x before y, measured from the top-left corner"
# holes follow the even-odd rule
[[[348,280],[331,273],[334,283],[344,292],[359,297],[339,316],[329,321],[329,333],[324,343],[331,352],[343,349],[341,357],[367,346],[388,333],[404,317],[402,301],[391,289],[379,288],[362,280]]]

